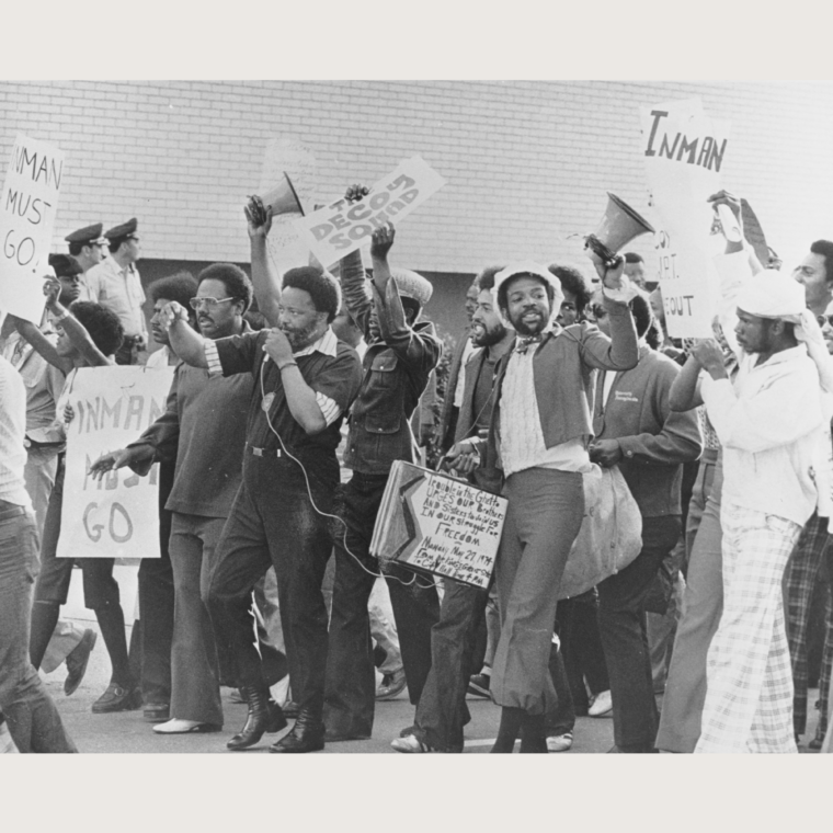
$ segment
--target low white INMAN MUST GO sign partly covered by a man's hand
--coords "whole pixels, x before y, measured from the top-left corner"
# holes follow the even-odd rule
[[[93,479],[90,465],[164,412],[172,367],[85,367],[71,381],[59,558],[159,558],[158,464]]]

